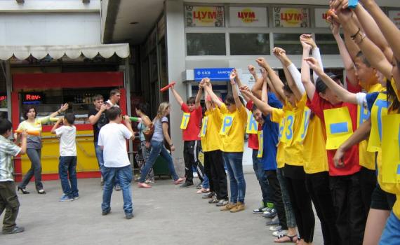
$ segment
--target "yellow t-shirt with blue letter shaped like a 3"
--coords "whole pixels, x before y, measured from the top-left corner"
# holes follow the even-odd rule
[[[293,166],[303,166],[303,145],[293,139],[298,138],[300,134],[300,127],[302,123],[302,116],[305,110],[305,103],[307,102],[307,97],[302,97],[302,99],[297,102],[295,107],[284,106],[283,109],[273,109],[271,120],[275,123],[284,122],[284,132],[279,134],[281,139],[286,137],[288,143],[284,146],[285,163]],[[288,103],[286,103],[288,104]],[[288,113],[288,111],[292,113]],[[285,116],[290,115],[288,118]],[[290,118],[291,117],[291,118]],[[279,149],[279,147],[278,147]],[[277,158],[276,158],[277,160]]]

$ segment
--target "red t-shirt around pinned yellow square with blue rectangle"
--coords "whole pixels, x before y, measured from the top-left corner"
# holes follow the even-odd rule
[[[318,92],[315,91],[314,97],[312,101],[307,101],[307,106],[311,109],[316,116],[321,119],[321,122],[324,124],[325,128],[325,118],[324,118],[324,109],[335,109],[340,107],[347,107],[349,109],[350,117],[352,118],[352,127],[353,132],[356,131],[357,128],[357,106],[355,104],[349,104],[346,102],[342,102],[336,105],[333,105],[327,102],[325,99],[319,97]],[[345,176],[354,174],[359,172],[361,166],[359,165],[359,145],[356,144],[352,146],[345,153],[343,162],[345,163],[345,167],[336,168],[333,163],[333,157],[335,156],[336,150],[326,150],[328,155],[328,164],[329,164],[329,175],[331,176]]]

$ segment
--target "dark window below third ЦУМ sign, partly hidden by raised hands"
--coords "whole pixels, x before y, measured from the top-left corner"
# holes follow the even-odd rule
[[[302,55],[301,34],[274,34],[274,46],[283,48],[288,55]]]

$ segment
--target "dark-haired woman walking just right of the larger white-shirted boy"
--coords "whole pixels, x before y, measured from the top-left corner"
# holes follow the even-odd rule
[[[142,161],[138,161],[138,165],[140,168],[140,172],[142,172],[143,166],[145,166],[145,163],[147,162],[147,159],[149,158],[149,153],[150,153],[150,147],[146,147],[146,139],[145,139],[145,134],[143,134],[144,131],[148,130],[149,125],[152,123],[152,120],[147,116],[149,110],[149,104],[148,103],[140,103],[135,106],[135,112],[136,115],[142,120],[140,123],[138,123],[138,130],[140,132],[140,150],[142,151]],[[149,174],[147,174],[146,183],[154,183],[154,172],[153,169],[150,169]]]

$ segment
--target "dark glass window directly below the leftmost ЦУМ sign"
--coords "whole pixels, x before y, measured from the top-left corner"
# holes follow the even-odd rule
[[[187,33],[187,55],[226,55],[225,33]]]

